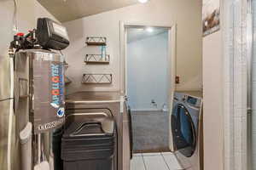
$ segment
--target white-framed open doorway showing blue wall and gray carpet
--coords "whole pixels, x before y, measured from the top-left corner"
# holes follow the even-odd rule
[[[133,150],[136,153],[170,151],[175,29],[125,24],[120,28],[124,68],[121,83],[131,108]]]

